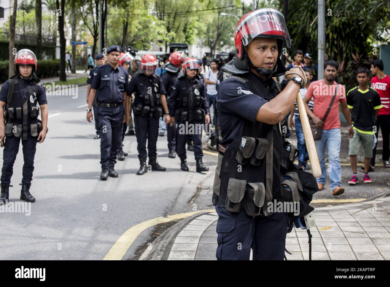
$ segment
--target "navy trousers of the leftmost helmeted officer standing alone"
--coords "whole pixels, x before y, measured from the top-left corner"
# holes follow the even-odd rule
[[[13,166],[16,159],[16,154],[19,151],[20,138],[14,136],[6,136],[3,151],[3,168],[1,174],[1,183],[10,184],[13,173]],[[23,183],[32,181],[32,172],[34,171],[34,156],[37,145],[37,136],[28,137],[27,140],[22,140],[23,149]]]

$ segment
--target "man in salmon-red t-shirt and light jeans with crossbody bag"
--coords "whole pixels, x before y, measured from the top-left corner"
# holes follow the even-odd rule
[[[351,122],[351,114],[347,106],[347,99],[345,89],[342,85],[335,82],[337,76],[337,69],[339,64],[330,60],[324,64],[324,79],[314,81],[307,89],[306,95],[303,98],[307,114],[314,120],[318,128],[322,128],[322,136],[320,140],[316,140],[316,150],[318,154],[319,163],[322,174],[317,178],[318,190],[323,190],[326,182],[326,166],[325,166],[325,148],[328,145],[329,155],[329,179],[330,188],[333,195],[340,195],[344,193],[344,188],[341,187],[341,165],[340,165],[340,145],[341,145],[341,131],[340,131],[340,114],[339,103],[344,117],[347,119],[349,125],[349,137],[353,136],[353,128]],[[324,115],[330,106],[333,95],[336,94],[332,107],[328,116],[323,122]],[[314,98],[313,111],[309,108],[309,101]]]

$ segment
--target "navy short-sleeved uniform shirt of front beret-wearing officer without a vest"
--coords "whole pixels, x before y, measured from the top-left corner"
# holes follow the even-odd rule
[[[96,74],[96,75],[95,75]],[[122,103],[123,92],[128,85],[128,71],[121,66],[114,69],[110,64],[96,67],[91,89],[96,89],[96,100],[103,103]]]

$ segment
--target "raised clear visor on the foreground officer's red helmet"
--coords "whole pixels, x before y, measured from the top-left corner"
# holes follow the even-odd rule
[[[262,8],[248,14],[236,28],[236,33],[241,34],[244,46],[259,35],[284,38],[288,48],[291,47],[289,31],[282,12],[273,8]]]

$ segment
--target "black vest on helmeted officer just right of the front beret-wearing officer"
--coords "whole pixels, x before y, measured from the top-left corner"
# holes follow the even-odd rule
[[[137,94],[134,99],[134,114],[142,117],[159,118],[163,115],[161,96],[158,93],[161,80],[160,76],[153,74],[151,77],[138,74]]]

